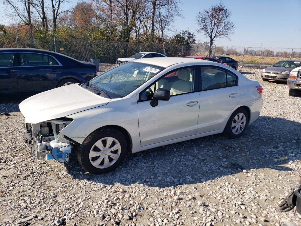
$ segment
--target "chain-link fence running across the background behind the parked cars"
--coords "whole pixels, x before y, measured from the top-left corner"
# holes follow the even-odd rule
[[[205,43],[197,43],[188,48],[186,45],[165,43],[138,43],[104,41],[98,37],[68,34],[64,36],[0,34],[0,48],[19,47],[37,48],[59,52],[81,61],[90,58],[100,59],[101,63],[116,62],[116,58],[130,57],[138,52],[160,52],[168,57],[209,56],[210,48]],[[212,56],[228,56],[240,66],[267,67],[283,59],[301,60],[301,49],[266,48],[241,46],[213,46]]]

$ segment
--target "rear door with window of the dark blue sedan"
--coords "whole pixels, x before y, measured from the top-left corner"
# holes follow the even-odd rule
[[[63,70],[62,64],[51,55],[18,52],[19,92],[52,89]]]

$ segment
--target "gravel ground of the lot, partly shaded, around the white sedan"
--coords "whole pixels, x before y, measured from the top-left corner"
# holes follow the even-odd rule
[[[101,68],[109,69],[111,65]],[[278,203],[298,181],[301,99],[281,82],[240,67],[263,86],[258,120],[239,139],[213,135],[130,154],[105,175],[29,156],[25,96],[4,97],[0,111],[0,224],[36,215],[30,225],[281,225],[301,224]],[[28,224],[28,225],[29,225]]]

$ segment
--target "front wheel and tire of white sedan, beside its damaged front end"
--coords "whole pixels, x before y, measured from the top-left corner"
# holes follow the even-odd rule
[[[92,174],[104,174],[116,169],[127,152],[123,134],[114,128],[92,132],[77,149],[79,164]]]

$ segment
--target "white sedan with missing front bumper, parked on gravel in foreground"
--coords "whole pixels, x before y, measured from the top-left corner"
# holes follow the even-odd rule
[[[115,169],[127,152],[224,133],[240,137],[261,111],[262,87],[226,65],[193,58],[121,64],[81,86],[20,103],[38,159],[76,154],[93,174]]]

